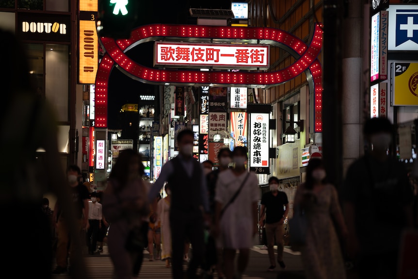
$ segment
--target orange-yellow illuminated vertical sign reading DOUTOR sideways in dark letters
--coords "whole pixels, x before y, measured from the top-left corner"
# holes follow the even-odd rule
[[[79,83],[93,84],[96,82],[98,67],[98,37],[95,21],[80,20],[79,48]]]

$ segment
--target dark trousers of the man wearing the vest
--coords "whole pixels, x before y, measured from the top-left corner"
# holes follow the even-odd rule
[[[170,210],[173,279],[183,279],[183,256],[186,239],[192,244],[192,258],[187,269],[188,279],[196,278],[197,268],[203,263],[205,237],[203,214],[200,210]]]

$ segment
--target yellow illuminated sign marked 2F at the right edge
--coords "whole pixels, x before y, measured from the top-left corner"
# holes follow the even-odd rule
[[[418,105],[418,63],[393,63],[393,105]]]

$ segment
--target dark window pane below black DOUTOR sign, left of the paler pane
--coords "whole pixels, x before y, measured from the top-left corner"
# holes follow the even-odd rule
[[[38,94],[44,96],[44,44],[25,44],[29,73]]]

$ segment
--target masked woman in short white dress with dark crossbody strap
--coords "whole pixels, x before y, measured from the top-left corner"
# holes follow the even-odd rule
[[[224,248],[226,279],[241,279],[250,248],[257,233],[257,202],[260,199],[257,176],[245,168],[248,149],[236,147],[232,152],[233,169],[219,174],[215,191],[215,234],[218,246]],[[241,189],[241,190],[240,190]],[[238,195],[236,195],[236,193]],[[231,198],[236,196],[231,202]],[[239,250],[238,268],[234,277],[234,260]]]

